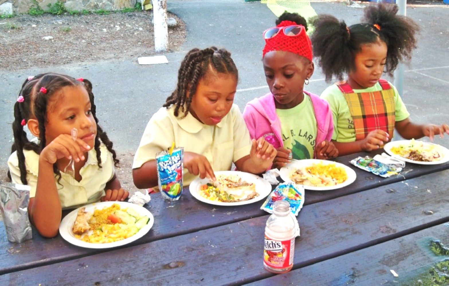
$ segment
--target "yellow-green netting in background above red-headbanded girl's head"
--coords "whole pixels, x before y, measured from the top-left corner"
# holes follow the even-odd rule
[[[266,3],[267,7],[276,15],[276,17],[281,16],[285,11],[289,13],[298,13],[304,17],[307,21],[313,17],[317,16],[317,13],[310,5],[310,0],[261,0],[261,3]],[[307,34],[313,32],[313,27],[309,26]]]

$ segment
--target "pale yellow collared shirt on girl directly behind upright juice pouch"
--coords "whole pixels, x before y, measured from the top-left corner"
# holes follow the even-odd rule
[[[242,113],[233,104],[229,113],[215,126],[201,123],[192,114],[182,118],[173,114],[174,107],[160,108],[148,122],[132,169],[155,160],[156,153],[167,150],[175,142],[184,152],[201,154],[209,160],[214,171],[231,169],[233,162],[250,154],[251,139]],[[184,168],[184,185],[189,186],[198,176]]]

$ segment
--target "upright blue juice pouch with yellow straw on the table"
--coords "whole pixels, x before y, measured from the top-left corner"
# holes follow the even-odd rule
[[[156,168],[162,197],[169,200],[178,200],[182,192],[184,148],[174,148],[172,155],[168,151],[157,153]]]

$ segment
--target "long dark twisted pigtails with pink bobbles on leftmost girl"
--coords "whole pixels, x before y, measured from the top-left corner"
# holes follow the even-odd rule
[[[22,89],[19,93],[19,97],[22,96],[23,100],[17,101],[14,104],[14,122],[13,122],[13,134],[14,143],[11,147],[11,152],[17,151],[18,165],[20,169],[20,179],[22,184],[27,184],[26,180],[26,166],[25,156],[23,150],[32,150],[37,154],[40,154],[42,149],[46,146],[45,140],[45,125],[47,122],[47,106],[51,97],[57,94],[62,87],[67,86],[84,86],[89,94],[89,100],[92,105],[92,116],[97,123],[97,135],[95,137],[94,149],[97,153],[98,167],[101,168],[101,151],[100,140],[105,144],[108,151],[111,152],[114,160],[114,165],[118,166],[119,160],[116,158],[116,153],[112,148],[112,142],[109,140],[106,132],[104,132],[98,125],[98,118],[96,116],[96,106],[94,104],[94,95],[92,93],[92,83],[87,79],[79,79],[69,77],[62,74],[46,73],[38,74],[34,78],[26,79],[22,84]],[[46,89],[46,92],[41,91],[41,87]],[[26,132],[23,130],[22,120],[27,122],[29,119],[35,118],[39,123],[39,144],[31,142],[26,136]],[[61,178],[61,173],[57,169],[56,163],[53,165],[53,172],[58,175],[58,182]],[[8,177],[11,178],[8,172]]]

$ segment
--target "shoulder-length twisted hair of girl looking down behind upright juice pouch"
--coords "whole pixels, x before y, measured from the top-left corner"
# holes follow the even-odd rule
[[[174,115],[178,117],[179,109],[184,118],[189,113],[192,97],[196,93],[198,82],[215,74],[232,74],[238,80],[238,70],[226,49],[216,47],[200,50],[194,48],[185,55],[178,71],[178,83],[163,107],[175,105]]]

